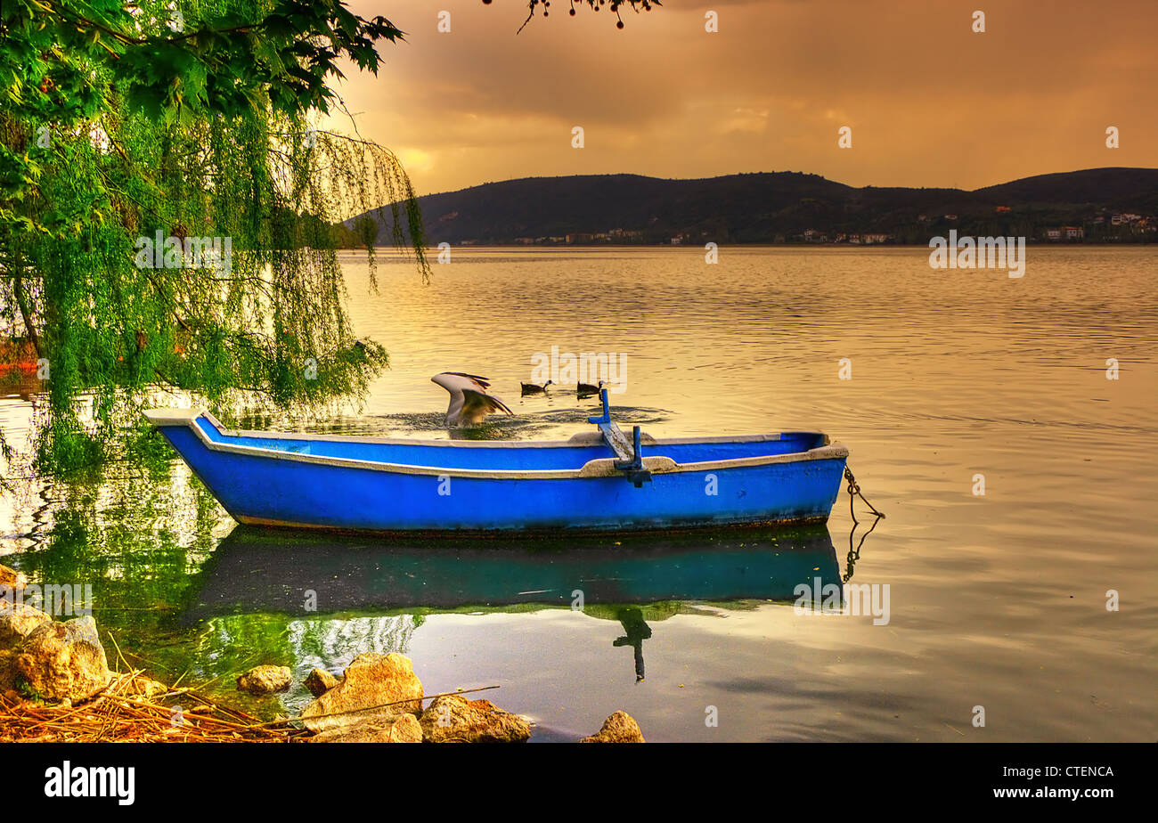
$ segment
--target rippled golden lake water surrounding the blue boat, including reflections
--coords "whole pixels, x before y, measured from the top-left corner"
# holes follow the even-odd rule
[[[535,354],[622,354],[621,421],[824,431],[887,517],[851,568],[843,492],[827,529],[779,534],[270,536],[234,528],[175,461],[17,484],[5,563],[90,582],[127,660],[222,693],[257,663],[303,676],[401,652],[428,693],[501,686],[483,696],[533,718],[535,740],[616,710],[654,741],[1156,740],[1155,250],[1031,248],[1020,279],[902,248],[452,253],[430,285],[387,256],[378,294],[344,255],[354,328],[391,368],[361,414],[309,428],[446,438],[430,377],[461,370],[515,412],[482,436],[565,438],[594,403],[520,398]],[[10,438],[28,416],[0,404]],[[872,523],[857,510],[853,545]],[[793,608],[796,583],[850,571],[888,587],[887,620]]]

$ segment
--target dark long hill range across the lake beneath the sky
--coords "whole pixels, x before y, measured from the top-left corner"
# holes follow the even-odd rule
[[[1086,242],[1158,241],[1158,169],[1084,169],[974,191],[856,189],[796,171],[527,177],[427,194],[419,205],[427,241],[454,245],[925,243],[950,228],[1045,241],[1065,226],[1080,227]],[[1128,218],[1115,219],[1122,213]],[[388,242],[382,215],[367,215],[379,223],[379,242]]]

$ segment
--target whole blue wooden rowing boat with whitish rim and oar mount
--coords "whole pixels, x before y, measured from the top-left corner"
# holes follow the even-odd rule
[[[432,441],[229,431],[145,412],[237,521],[380,532],[647,531],[824,522],[848,449],[819,432],[629,439],[607,391],[570,440]]]

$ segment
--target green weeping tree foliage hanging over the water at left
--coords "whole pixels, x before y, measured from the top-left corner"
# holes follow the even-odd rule
[[[425,277],[420,216],[389,150],[310,123],[339,59],[400,39],[324,0],[5,0],[0,333],[35,353],[41,470],[100,461],[157,385],[365,394],[387,354],[350,328],[340,221],[389,204]]]

